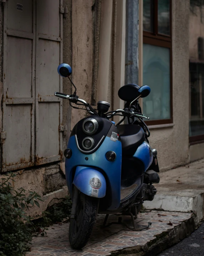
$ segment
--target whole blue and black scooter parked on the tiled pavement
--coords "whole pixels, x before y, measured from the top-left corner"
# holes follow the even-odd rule
[[[72,69],[68,64],[58,66],[58,73],[68,77]],[[70,106],[83,109],[90,116],[80,120],[73,128],[67,149],[65,169],[68,191],[72,198],[69,240],[72,248],[81,249],[91,235],[97,214],[129,215],[134,231],[148,228],[136,226],[135,218],[145,200],[152,201],[159,183],[157,151],[149,145],[149,129],[143,119],[138,99],[150,93],[149,86],[127,84],[118,91],[125,101],[124,109],[108,111],[106,101],[97,103],[97,110],[76,95],[55,92],[55,96],[68,99]],[[75,105],[73,105],[75,104]],[[85,108],[83,108],[84,106]],[[113,116],[122,116],[117,125],[110,121]],[[124,120],[128,124],[121,124]]]

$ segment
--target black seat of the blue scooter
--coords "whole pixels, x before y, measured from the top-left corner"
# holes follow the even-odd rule
[[[133,156],[144,141],[144,130],[139,125],[117,125],[121,136],[122,155]]]

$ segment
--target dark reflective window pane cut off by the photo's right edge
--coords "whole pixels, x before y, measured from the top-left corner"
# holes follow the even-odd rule
[[[190,2],[189,136],[204,135],[204,3]]]

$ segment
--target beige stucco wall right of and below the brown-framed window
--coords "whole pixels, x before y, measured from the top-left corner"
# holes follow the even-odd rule
[[[160,169],[187,163],[189,154],[189,1],[172,1],[173,124],[151,130]]]

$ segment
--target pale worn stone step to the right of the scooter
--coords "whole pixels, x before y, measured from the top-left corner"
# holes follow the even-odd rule
[[[194,212],[198,221],[204,218],[204,159],[159,174],[153,201],[146,209]]]

